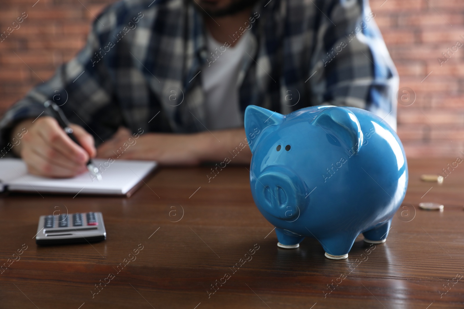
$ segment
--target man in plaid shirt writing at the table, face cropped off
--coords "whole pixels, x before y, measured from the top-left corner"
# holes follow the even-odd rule
[[[222,161],[245,141],[250,104],[283,114],[361,107],[396,128],[397,88],[367,0],[120,1],[74,59],[6,113],[1,142],[27,132],[12,151],[48,177],[75,176],[89,157],[119,149],[161,164]],[[82,147],[47,116],[46,100]],[[234,161],[250,158],[245,148]]]

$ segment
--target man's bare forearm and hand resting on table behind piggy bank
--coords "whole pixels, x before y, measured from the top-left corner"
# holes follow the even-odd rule
[[[118,158],[155,160],[161,165],[221,162],[226,157],[231,158],[233,163],[250,163],[251,152],[246,145],[244,129],[213,131],[213,133],[214,135],[211,132],[192,134],[147,132],[137,134],[135,138],[128,129],[120,127],[112,139],[98,147],[97,157],[115,160]],[[236,147],[243,149],[237,157],[229,152]]]

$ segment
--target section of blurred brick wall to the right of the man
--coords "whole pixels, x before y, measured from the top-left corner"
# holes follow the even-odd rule
[[[464,48],[455,48],[449,60],[442,53],[464,44],[464,1],[371,0],[371,8],[400,73],[400,90],[416,97],[414,103],[407,93],[399,98],[398,135],[406,155],[461,156]],[[438,57],[446,62],[440,65]]]

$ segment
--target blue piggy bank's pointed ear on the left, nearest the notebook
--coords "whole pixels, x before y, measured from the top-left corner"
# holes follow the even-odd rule
[[[249,105],[245,109],[245,133],[251,152],[255,150],[258,136],[262,136],[264,129],[278,126],[284,121],[284,115],[256,105]]]

